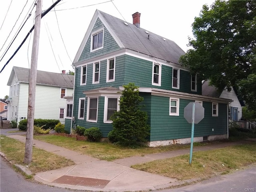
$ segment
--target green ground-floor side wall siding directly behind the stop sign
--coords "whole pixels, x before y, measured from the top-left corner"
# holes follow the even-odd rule
[[[169,97],[151,97],[150,141],[191,137],[191,124],[184,118],[184,108],[194,100],[180,99],[179,116],[169,116]],[[195,124],[194,136],[226,134],[226,104],[219,104],[219,116],[212,117],[212,103],[203,102],[205,118]],[[212,131],[214,128],[214,131]]]

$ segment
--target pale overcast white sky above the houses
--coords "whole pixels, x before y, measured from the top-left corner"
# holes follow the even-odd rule
[[[34,24],[34,1],[0,1],[0,70]],[[42,0],[42,11],[54,2],[56,0]],[[191,25],[194,18],[199,16],[204,4],[210,6],[213,2],[214,0],[62,0],[54,7],[55,11],[52,9],[41,20],[37,70],[56,73],[73,70],[72,62],[96,9],[128,23],[132,23],[132,14],[139,12],[140,28],[173,40],[186,52],[190,48],[187,46],[188,37],[193,37]],[[30,12],[31,16],[28,18]],[[0,73],[0,98],[9,95],[10,87],[7,83],[13,66],[30,68],[32,42],[33,32]]]

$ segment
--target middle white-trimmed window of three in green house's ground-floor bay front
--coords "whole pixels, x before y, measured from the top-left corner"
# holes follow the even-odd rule
[[[98,119],[98,97],[88,97],[86,120],[97,122]]]

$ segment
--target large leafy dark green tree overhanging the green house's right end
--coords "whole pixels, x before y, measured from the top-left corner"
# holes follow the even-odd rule
[[[210,79],[219,89],[239,89],[242,79],[256,74],[256,1],[216,0],[210,8],[204,5],[192,32],[188,45],[194,49],[181,56],[180,63],[201,80]],[[247,91],[240,92],[245,96]]]

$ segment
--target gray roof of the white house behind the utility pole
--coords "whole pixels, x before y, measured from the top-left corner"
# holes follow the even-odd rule
[[[14,66],[12,69],[12,73],[15,73],[17,80],[20,82],[28,82],[29,78],[29,69]],[[11,74],[12,76],[12,74]],[[10,78],[12,78],[10,76]],[[9,79],[8,84],[10,86],[11,79]],[[61,86],[61,87],[73,87],[74,86],[74,75],[62,74],[62,73],[53,73],[46,71],[37,70],[37,84],[46,84],[53,86]]]

